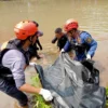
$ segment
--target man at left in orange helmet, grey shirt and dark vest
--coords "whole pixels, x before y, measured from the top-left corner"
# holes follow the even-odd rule
[[[40,94],[45,100],[52,100],[49,90],[35,87],[25,82],[24,70],[29,65],[27,50],[37,40],[38,27],[31,21],[23,21],[14,27],[15,40],[0,54],[0,91],[18,100],[19,107],[28,108],[28,98],[23,93]]]

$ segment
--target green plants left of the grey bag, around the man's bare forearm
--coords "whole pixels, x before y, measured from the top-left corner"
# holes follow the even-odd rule
[[[32,80],[32,85],[36,87],[41,86],[39,75],[35,76],[31,78]],[[33,95],[33,108],[52,108],[49,103],[46,103],[43,97],[39,94]]]

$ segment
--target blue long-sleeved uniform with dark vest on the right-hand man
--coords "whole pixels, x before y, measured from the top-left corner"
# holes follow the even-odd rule
[[[77,60],[82,60],[86,58],[86,54],[93,57],[97,49],[97,42],[86,31],[82,31],[79,38],[80,38],[80,43],[78,43],[77,39],[71,39],[71,41],[67,41],[66,45],[64,46],[64,51],[68,52],[69,49],[72,49],[76,45]]]

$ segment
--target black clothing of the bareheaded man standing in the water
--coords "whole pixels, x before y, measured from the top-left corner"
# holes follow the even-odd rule
[[[57,46],[59,48],[59,51],[64,48],[64,45],[66,44],[67,42],[67,36],[64,35],[62,36],[60,39],[57,39],[56,37],[52,40],[52,43],[55,43],[57,41]]]

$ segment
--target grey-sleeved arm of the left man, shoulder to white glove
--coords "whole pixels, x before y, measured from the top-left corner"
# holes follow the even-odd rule
[[[26,60],[24,55],[17,50],[10,50],[2,58],[2,65],[10,68],[13,75],[15,86],[23,92],[39,93],[45,100],[52,100],[52,94],[50,91],[35,87],[25,82],[24,70],[26,68]]]

